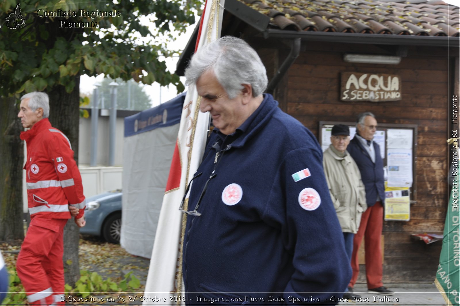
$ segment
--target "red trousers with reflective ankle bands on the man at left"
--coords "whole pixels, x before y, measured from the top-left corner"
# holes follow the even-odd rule
[[[29,304],[64,304],[63,232],[68,219],[35,216],[17,257]],[[62,301],[62,302],[61,302]]]

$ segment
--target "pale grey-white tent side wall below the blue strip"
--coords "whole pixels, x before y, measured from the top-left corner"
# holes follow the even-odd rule
[[[174,124],[124,139],[120,244],[133,255],[152,255],[178,130]]]

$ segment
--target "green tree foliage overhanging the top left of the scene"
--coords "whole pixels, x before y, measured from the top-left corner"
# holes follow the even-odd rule
[[[184,25],[195,22],[200,0],[22,0],[26,24],[10,29],[5,17],[16,4],[0,2],[0,96],[55,85],[69,93],[75,76],[101,73],[144,84],[172,83],[183,91],[179,77],[167,72],[159,58],[171,55],[166,47],[170,31],[184,31]],[[104,13],[115,16],[99,16]]]

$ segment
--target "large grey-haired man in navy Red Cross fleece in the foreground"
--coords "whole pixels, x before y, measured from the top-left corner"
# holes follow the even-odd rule
[[[281,111],[245,41],[223,37],[185,71],[215,128],[190,188],[188,304],[332,304],[351,269],[314,135]]]

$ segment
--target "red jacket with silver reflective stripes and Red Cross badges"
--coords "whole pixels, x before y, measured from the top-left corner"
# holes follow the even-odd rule
[[[76,218],[81,218],[85,196],[69,139],[48,118],[21,132],[21,139],[27,143],[24,169],[30,216],[68,219],[70,204],[80,208]]]

